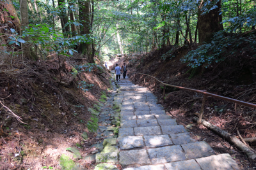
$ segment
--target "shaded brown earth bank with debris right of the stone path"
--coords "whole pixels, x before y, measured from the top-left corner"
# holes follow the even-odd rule
[[[172,54],[175,57],[164,59],[163,54],[172,48],[174,49]],[[193,48],[196,46],[194,45]],[[164,83],[207,90],[213,94],[255,103],[255,57],[234,55],[232,58],[212,65],[208,69],[198,69],[195,76],[191,78],[191,69],[186,66],[187,64],[180,61],[180,58],[187,52],[188,47],[186,46],[168,46],[147,54],[122,57],[121,60],[128,63],[132,72],[155,76]],[[166,87],[166,95],[163,97],[163,87],[157,83],[157,88],[154,90],[155,81],[152,78],[134,73],[129,76],[134,83],[149,87],[158,97],[159,103],[164,106],[164,109],[177,119],[178,124],[185,127],[189,125],[191,132],[195,134],[195,139],[209,143],[217,154],[229,153],[243,169],[256,168],[256,162],[248,159],[235,146],[230,145],[225,139],[220,138],[203,125],[196,125],[192,121],[192,118],[198,116],[200,112],[201,94]],[[243,138],[256,136],[256,111],[253,108],[207,97],[203,118],[236,136],[237,129]],[[250,143],[250,146],[256,150],[255,143]]]

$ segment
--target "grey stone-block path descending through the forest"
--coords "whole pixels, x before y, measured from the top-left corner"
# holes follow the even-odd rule
[[[119,153],[99,153],[97,163],[115,162],[125,170],[239,169],[228,153],[215,155],[207,143],[191,138],[183,125],[166,115],[150,90],[128,78],[117,84],[114,103],[121,104],[121,123],[118,138],[111,140],[117,141]]]

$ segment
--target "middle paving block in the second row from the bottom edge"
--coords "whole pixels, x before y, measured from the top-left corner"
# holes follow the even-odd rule
[[[185,153],[182,152],[182,148],[179,145],[148,149],[148,155],[152,164],[186,160]]]

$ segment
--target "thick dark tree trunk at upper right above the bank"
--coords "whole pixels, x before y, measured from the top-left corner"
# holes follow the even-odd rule
[[[206,0],[202,0],[198,8],[198,38],[199,44],[202,45],[203,42],[208,42],[213,37],[214,32],[223,30],[222,15],[220,15],[221,10],[221,0],[216,3],[218,8],[209,11],[208,13],[202,14],[201,8],[204,6]],[[210,0],[214,1],[214,0]]]

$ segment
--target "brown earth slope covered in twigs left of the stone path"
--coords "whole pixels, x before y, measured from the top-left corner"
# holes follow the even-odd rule
[[[67,148],[76,147],[82,157],[93,152],[90,146],[103,139],[86,127],[88,108],[102,92],[108,94],[109,71],[102,64],[87,64],[78,54],[61,67],[58,57],[10,62],[0,63],[0,169],[61,169],[61,154],[72,157]],[[78,162],[89,168],[94,163]]]

